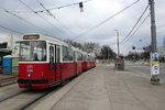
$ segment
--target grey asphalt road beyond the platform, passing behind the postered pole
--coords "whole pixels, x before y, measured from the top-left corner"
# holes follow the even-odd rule
[[[125,62],[125,70],[131,70],[143,77],[151,78],[151,67],[147,63],[142,62]],[[160,78],[165,81],[165,63],[160,64]]]

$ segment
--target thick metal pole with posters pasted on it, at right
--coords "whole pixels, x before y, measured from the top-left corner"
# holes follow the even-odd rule
[[[160,66],[158,66],[158,59],[155,61],[153,58],[153,55],[157,53],[157,46],[156,46],[156,25],[155,25],[155,9],[154,9],[154,0],[148,0],[150,4],[150,11],[151,11],[151,46],[152,46],[152,54],[151,54],[151,64],[152,64],[152,72],[151,72],[151,82],[152,84],[160,84]],[[158,56],[158,55],[157,55]],[[157,62],[157,64],[154,64],[154,62]],[[153,66],[154,65],[154,66]],[[157,67],[156,67],[157,66]],[[154,68],[157,68],[157,73],[155,74]]]

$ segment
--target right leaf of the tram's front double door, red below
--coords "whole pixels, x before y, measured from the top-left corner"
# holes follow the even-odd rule
[[[56,45],[56,51],[55,51],[55,78],[56,81],[61,80],[61,46]]]

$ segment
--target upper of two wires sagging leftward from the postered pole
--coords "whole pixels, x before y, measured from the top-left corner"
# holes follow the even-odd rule
[[[143,18],[143,15],[145,14],[146,10],[148,9],[148,6],[144,9],[144,11],[142,12],[142,14],[140,15],[140,18],[138,19],[138,21],[135,22],[134,26],[131,29],[131,31],[129,32],[129,34],[124,37],[124,40],[122,40],[120,42],[120,44],[124,43],[124,41],[127,41],[128,37],[130,37],[130,35],[132,34],[132,32],[134,31],[134,29],[136,28],[136,25],[139,24],[139,22],[141,21],[141,19]]]

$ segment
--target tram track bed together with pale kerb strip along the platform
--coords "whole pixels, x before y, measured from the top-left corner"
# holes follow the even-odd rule
[[[0,108],[4,110],[32,110],[33,108],[52,108],[62,97],[65,96],[73,87],[75,87],[88,74],[70,80],[65,86],[56,86],[44,90],[20,89],[15,86],[0,90],[0,94],[8,92],[8,97],[0,98]],[[50,101],[50,100],[53,100]],[[47,105],[48,103],[48,105]],[[44,107],[41,107],[44,106]],[[47,110],[47,109],[45,109]]]

